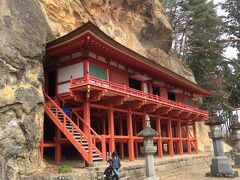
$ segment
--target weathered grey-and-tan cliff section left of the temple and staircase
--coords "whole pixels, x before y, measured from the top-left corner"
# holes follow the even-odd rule
[[[49,33],[38,1],[0,1],[0,179],[42,164],[42,61]]]

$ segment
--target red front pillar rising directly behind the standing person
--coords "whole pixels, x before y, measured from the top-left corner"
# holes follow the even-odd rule
[[[114,139],[114,117],[113,117],[113,106],[109,105],[108,110],[108,134],[110,135],[109,140],[109,151],[112,153],[115,151],[115,139]]]

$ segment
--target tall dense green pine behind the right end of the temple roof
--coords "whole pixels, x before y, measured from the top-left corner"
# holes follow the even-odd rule
[[[191,12],[187,64],[200,85],[216,90],[216,85],[209,81],[209,77],[214,80],[220,73],[222,59],[216,54],[221,54],[223,47],[216,39],[221,35],[221,20],[212,1],[193,0],[186,8]]]

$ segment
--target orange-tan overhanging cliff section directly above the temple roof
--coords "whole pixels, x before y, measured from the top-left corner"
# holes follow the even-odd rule
[[[159,0],[41,0],[56,36],[92,21],[116,41],[195,82],[178,59],[168,55],[172,29]]]

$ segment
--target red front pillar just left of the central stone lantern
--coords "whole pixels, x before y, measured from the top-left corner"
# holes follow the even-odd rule
[[[127,129],[128,129],[128,154],[129,160],[134,160],[134,145],[133,145],[133,131],[132,131],[132,112],[128,110],[127,117]]]

